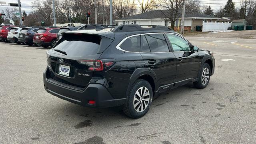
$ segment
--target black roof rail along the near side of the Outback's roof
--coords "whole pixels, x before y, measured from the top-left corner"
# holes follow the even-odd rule
[[[143,28],[142,26],[150,26],[148,28]],[[157,25],[138,25],[138,24],[126,24],[116,26],[112,32],[132,32],[132,31],[141,31],[141,30],[169,30],[173,31],[167,26],[157,26]]]

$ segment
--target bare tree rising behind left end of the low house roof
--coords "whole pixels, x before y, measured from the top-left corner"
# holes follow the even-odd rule
[[[116,13],[118,18],[125,18],[135,14],[135,0],[114,0],[113,11]]]

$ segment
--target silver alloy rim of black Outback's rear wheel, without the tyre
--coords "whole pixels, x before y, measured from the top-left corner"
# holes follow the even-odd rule
[[[148,88],[142,86],[134,94],[133,107],[137,112],[143,112],[148,107],[149,101],[149,90]]]

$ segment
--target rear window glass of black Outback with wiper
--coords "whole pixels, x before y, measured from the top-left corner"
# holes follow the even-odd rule
[[[54,49],[65,51],[67,56],[89,56],[97,54],[100,47],[100,37],[88,34],[68,34]],[[55,52],[54,53],[58,53]]]

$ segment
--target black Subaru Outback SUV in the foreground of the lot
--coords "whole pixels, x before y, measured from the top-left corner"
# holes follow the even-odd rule
[[[168,27],[140,25],[65,32],[47,63],[48,93],[82,106],[123,106],[132,118],[161,92],[188,82],[205,88],[215,66],[212,52]]]

